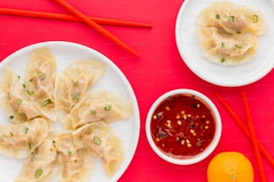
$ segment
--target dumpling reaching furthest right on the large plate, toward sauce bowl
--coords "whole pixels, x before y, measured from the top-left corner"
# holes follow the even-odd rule
[[[133,113],[132,104],[107,91],[90,92],[73,108],[64,121],[64,128],[75,129],[84,124],[104,120],[124,120]]]

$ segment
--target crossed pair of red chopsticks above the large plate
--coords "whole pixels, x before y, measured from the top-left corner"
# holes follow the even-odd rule
[[[122,46],[124,49],[126,49],[130,53],[140,56],[131,47],[129,47],[128,45],[125,45],[122,40],[115,37],[113,34],[108,32],[107,29],[102,28],[98,24],[151,28],[150,24],[133,22],[133,21],[122,21],[122,20],[115,20],[115,19],[89,17],[85,15],[84,13],[78,11],[72,5],[67,4],[64,0],[54,0],[54,1],[60,6],[62,6],[65,10],[70,12],[72,15],[58,14],[58,13],[52,13],[52,12],[17,10],[17,9],[11,9],[11,8],[0,8],[0,14],[27,16],[27,17],[43,18],[43,19],[54,19],[54,20],[61,20],[61,21],[82,21],[86,23],[88,26],[90,26],[90,28],[98,30],[99,33],[109,38],[110,40],[114,41],[117,45]]]

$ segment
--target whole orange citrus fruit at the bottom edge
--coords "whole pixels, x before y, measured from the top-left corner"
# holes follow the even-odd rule
[[[207,177],[208,182],[253,182],[253,166],[243,153],[218,153],[209,163]]]

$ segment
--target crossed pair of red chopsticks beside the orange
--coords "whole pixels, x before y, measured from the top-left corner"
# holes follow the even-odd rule
[[[245,136],[247,136],[252,141],[261,181],[266,182],[267,180],[263,170],[261,154],[266,158],[267,161],[270,162],[272,168],[274,168],[274,159],[271,157],[270,153],[264,148],[263,145],[261,145],[261,143],[256,138],[255,130],[253,126],[253,119],[249,109],[245,92],[242,93],[242,97],[243,97],[244,109],[247,117],[247,124],[248,124],[247,128],[244,126],[244,122],[236,115],[236,113],[228,105],[228,103],[221,97],[221,95],[219,95],[217,92],[215,93],[215,95],[218,98],[219,102],[222,103],[222,105],[227,109],[227,112],[235,120],[235,123],[238,125],[238,127],[244,131]]]

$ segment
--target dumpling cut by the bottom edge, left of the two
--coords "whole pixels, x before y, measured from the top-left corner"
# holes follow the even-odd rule
[[[24,159],[19,177],[15,182],[49,181],[56,167],[56,134],[50,133],[29,157]]]

